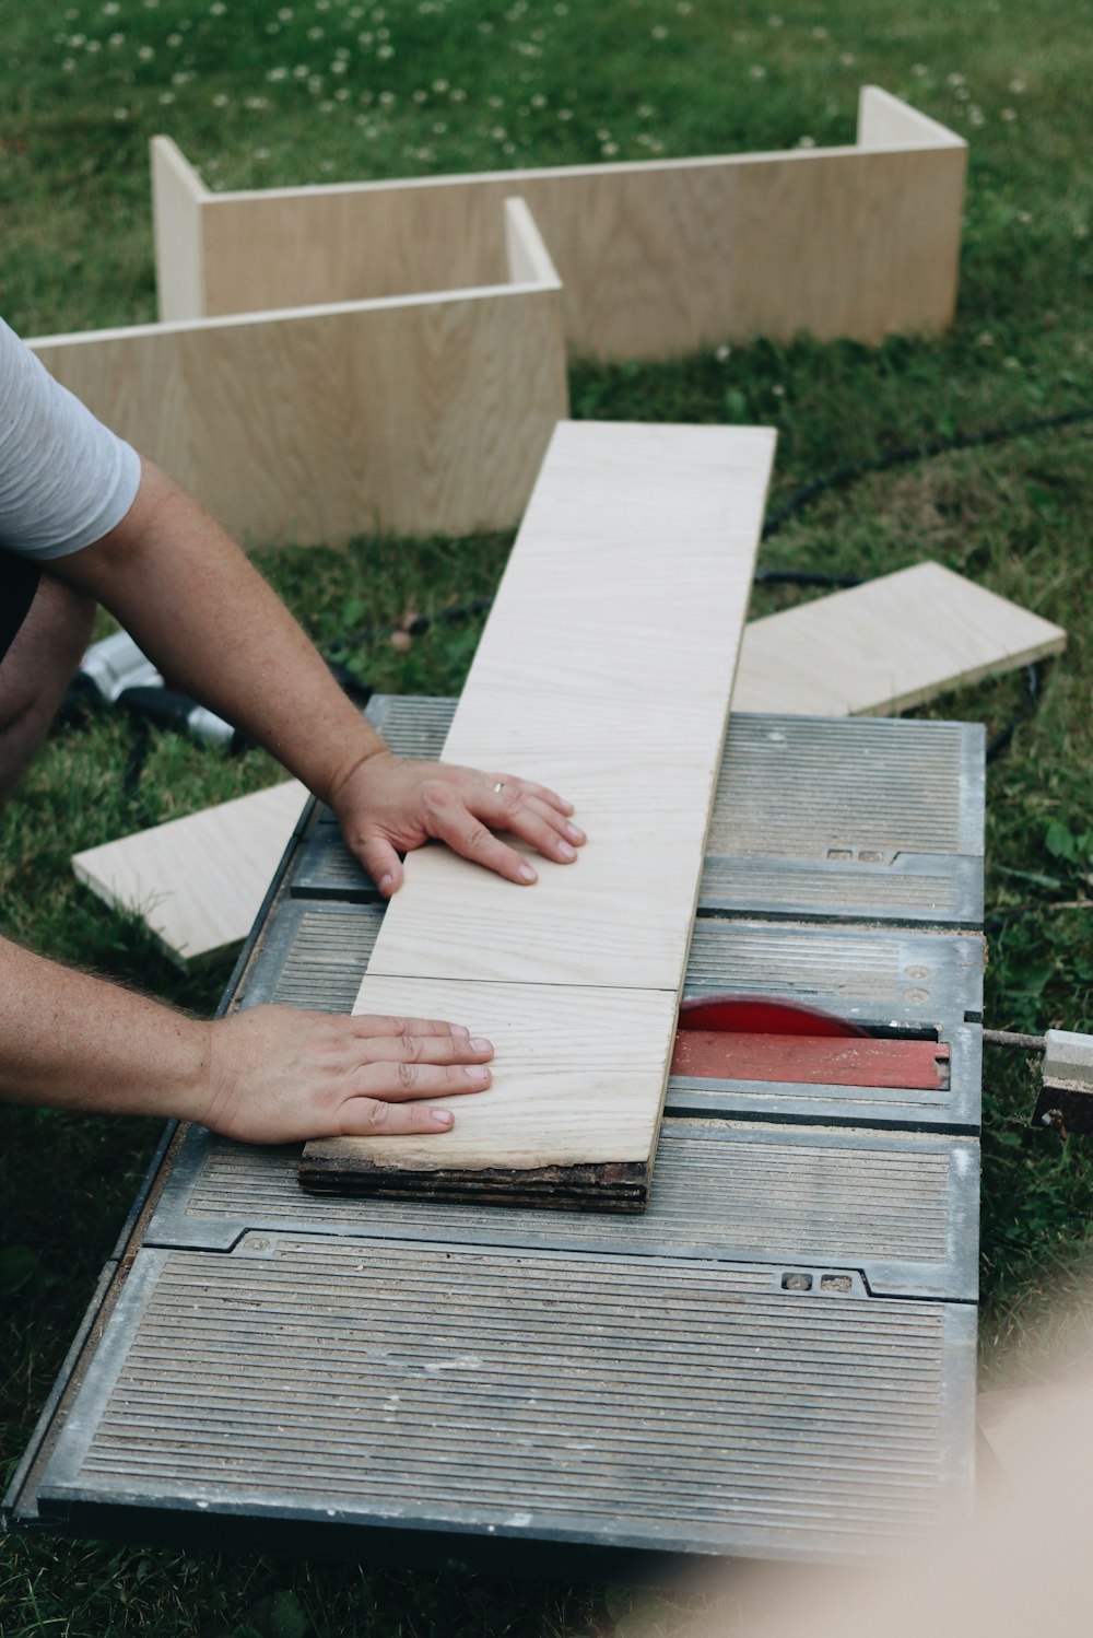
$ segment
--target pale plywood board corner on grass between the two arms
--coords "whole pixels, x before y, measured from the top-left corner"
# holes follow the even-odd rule
[[[296,780],[273,785],[75,853],[72,868],[187,966],[247,937],[306,794]]]

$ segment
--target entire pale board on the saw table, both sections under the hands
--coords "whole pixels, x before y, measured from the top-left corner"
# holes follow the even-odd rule
[[[645,1202],[772,455],[766,428],[558,428],[445,760],[553,785],[589,842],[524,889],[407,858],[357,1011],[471,1009],[497,1081],[424,1143],[309,1143],[304,1186]]]

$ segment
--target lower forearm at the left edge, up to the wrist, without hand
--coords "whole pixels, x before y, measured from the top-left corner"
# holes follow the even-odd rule
[[[209,1029],[0,940],[0,1097],[201,1119]]]

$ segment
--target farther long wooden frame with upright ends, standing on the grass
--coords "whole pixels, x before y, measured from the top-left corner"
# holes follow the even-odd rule
[[[267,192],[211,193],[157,138],[157,241],[200,234],[188,260],[203,270],[195,292],[162,267],[160,316],[501,282],[501,201],[520,193],[576,352],[669,357],[802,329],[875,342],[952,318],[965,159],[960,138],[875,87],[854,147]]]

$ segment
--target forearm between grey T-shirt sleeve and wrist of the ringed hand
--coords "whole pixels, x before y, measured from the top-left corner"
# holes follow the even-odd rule
[[[123,523],[52,567],[316,794],[385,749],[247,557],[154,465]]]

